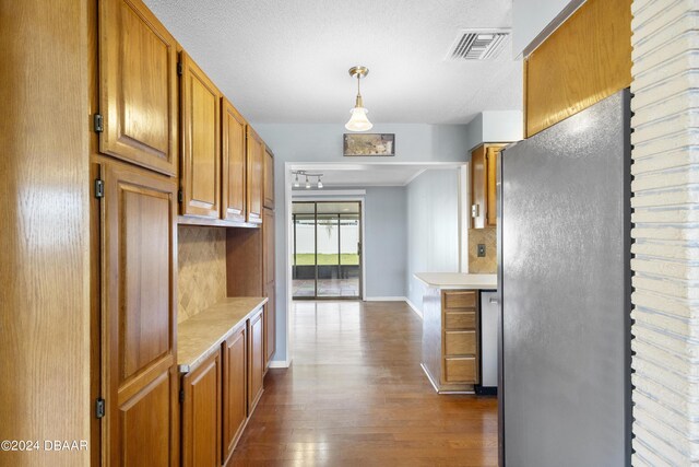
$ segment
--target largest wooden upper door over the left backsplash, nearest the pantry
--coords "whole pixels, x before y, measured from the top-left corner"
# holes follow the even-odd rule
[[[218,219],[221,209],[221,93],[181,54],[181,213]]]

